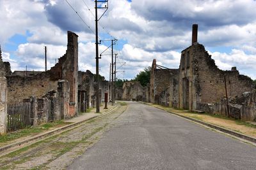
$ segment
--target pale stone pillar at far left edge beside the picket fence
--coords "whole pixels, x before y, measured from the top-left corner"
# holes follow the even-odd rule
[[[6,133],[7,127],[7,81],[0,77],[0,135]]]

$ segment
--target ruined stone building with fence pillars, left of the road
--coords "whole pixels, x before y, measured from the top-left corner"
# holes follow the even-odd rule
[[[66,53],[48,71],[14,71],[12,73],[10,63],[3,62],[0,57],[2,96],[0,127],[5,125],[4,132],[6,132],[6,117],[8,117],[7,130],[15,131],[17,129],[14,124],[38,125],[70,118],[86,111],[86,108],[95,106],[94,75],[90,71],[78,71],[78,36],[68,31],[67,37]],[[104,93],[108,92],[108,86],[108,81],[99,81],[100,97],[103,99]],[[103,100],[102,98],[100,101]],[[12,110],[6,111],[7,105],[22,111],[11,113]],[[15,122],[12,122],[13,120]],[[10,125],[14,125],[15,128],[13,129]],[[3,131],[0,128],[0,132]]]

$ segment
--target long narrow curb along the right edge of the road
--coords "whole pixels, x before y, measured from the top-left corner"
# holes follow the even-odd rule
[[[140,102],[140,103],[142,103],[142,102]],[[143,104],[147,104],[148,106],[151,106],[151,105],[148,104],[148,103],[143,103]],[[157,108],[157,107],[155,107],[155,106],[152,106],[152,107]],[[162,108],[157,108],[157,109],[163,110]],[[163,111],[166,111],[166,110],[163,110]],[[186,116],[183,116],[183,115],[179,115],[179,114],[177,114],[177,113],[173,113],[172,111],[166,111],[166,112],[172,113],[173,115],[177,115],[178,117],[186,118],[186,119],[191,120],[191,121],[193,121],[193,122],[196,122],[196,123],[198,123],[198,124],[202,124],[202,125],[205,125],[205,126],[207,126],[207,127],[211,127],[212,129],[216,129],[216,130],[218,130],[218,131],[225,132],[225,133],[227,133],[227,134],[231,134],[231,135],[236,136],[236,137],[238,137],[238,138],[242,138],[242,139],[245,139],[245,140],[247,140],[247,141],[256,143],[256,138],[253,138],[253,137],[250,137],[250,136],[246,136],[246,135],[241,134],[241,133],[239,133],[239,132],[231,131],[231,130],[229,130],[229,129],[225,129],[225,128],[223,128],[223,127],[220,127],[220,126],[218,126],[218,125],[212,125],[212,124],[209,124],[209,123],[207,123],[207,122],[203,122],[203,121],[201,121],[201,120],[197,120],[197,119],[195,119],[195,118],[190,118],[190,117],[186,117]]]

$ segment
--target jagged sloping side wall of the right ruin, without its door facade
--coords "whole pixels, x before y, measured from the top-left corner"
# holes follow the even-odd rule
[[[248,76],[240,75],[236,69],[232,71],[222,71],[218,69],[211,55],[209,55],[203,45],[193,46],[193,62],[197,62],[200,83],[200,101],[209,103],[220,101],[225,96],[226,76],[228,97],[242,96],[243,92],[250,92],[253,89],[253,81]],[[200,62],[198,62],[200,61]]]

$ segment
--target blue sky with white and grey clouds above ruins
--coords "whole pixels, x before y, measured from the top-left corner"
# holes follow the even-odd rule
[[[26,66],[44,71],[47,46],[50,69],[65,54],[67,31],[72,31],[79,36],[79,70],[95,73],[94,5],[94,0],[0,0],[3,60],[10,62],[12,71]],[[220,69],[236,66],[256,80],[255,9],[254,0],[109,0],[99,20],[99,40],[118,39],[116,75],[131,79],[153,59],[179,68],[180,52],[191,45],[192,24],[198,24],[198,43]],[[99,16],[103,12],[99,10]],[[99,52],[109,43],[102,41]],[[106,50],[99,61],[107,80],[110,54]]]

